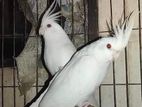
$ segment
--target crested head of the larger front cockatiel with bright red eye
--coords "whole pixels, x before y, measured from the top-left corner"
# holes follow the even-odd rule
[[[112,61],[117,59],[121,51],[127,46],[133,27],[132,13],[122,23],[112,28],[112,36],[103,37],[96,41],[95,54],[99,60]],[[103,55],[102,55],[103,53]]]

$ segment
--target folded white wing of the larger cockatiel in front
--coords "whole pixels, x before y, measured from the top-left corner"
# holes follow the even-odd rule
[[[53,80],[40,107],[73,107],[86,99],[94,90],[90,84],[98,76],[95,65],[92,56],[74,57]]]

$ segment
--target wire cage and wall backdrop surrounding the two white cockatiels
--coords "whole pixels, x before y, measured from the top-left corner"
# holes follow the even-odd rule
[[[42,89],[49,75],[42,63],[36,33],[41,14],[52,0],[0,0],[0,107],[23,107]],[[74,45],[107,35],[106,20],[115,22],[136,9],[128,47],[114,62],[95,93],[99,107],[142,106],[142,0],[57,0],[60,24]],[[120,10],[119,10],[120,9]],[[22,26],[22,27],[20,27]],[[134,39],[134,40],[133,40]],[[19,42],[20,41],[20,42]]]

